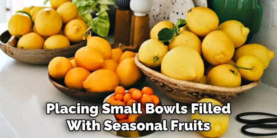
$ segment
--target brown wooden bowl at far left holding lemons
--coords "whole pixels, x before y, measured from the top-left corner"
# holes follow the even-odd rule
[[[9,43],[7,43],[9,42]],[[66,48],[58,49],[20,49],[16,48],[18,38],[5,31],[0,35],[0,49],[8,56],[18,61],[37,65],[47,65],[53,58],[63,56],[70,58],[76,51],[86,46],[86,40],[71,45]]]

